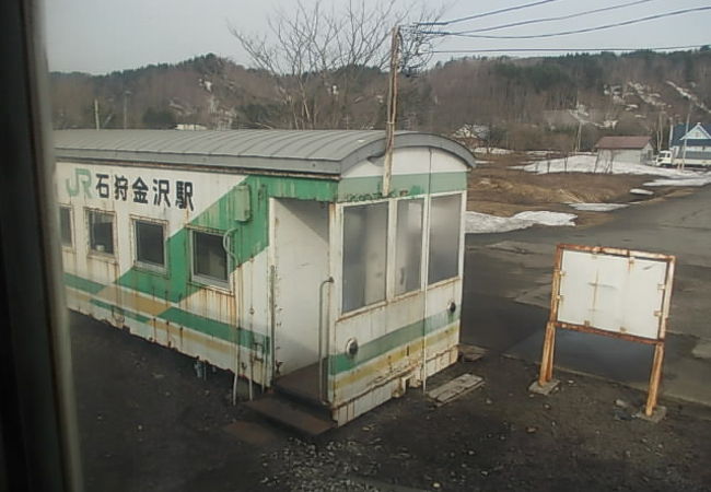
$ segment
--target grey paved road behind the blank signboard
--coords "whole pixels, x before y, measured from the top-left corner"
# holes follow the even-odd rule
[[[673,254],[663,395],[711,405],[711,187],[637,203],[603,225],[467,236],[462,340],[540,360],[558,243]],[[652,348],[559,330],[556,365],[646,387]]]

